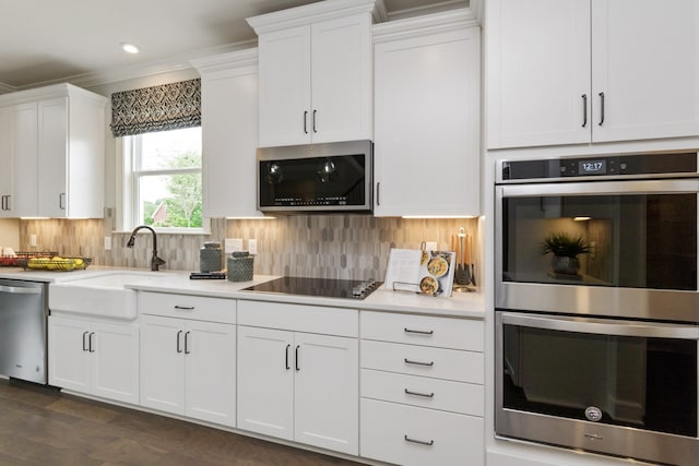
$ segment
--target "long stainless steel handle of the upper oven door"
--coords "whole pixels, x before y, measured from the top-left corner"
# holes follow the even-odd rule
[[[696,193],[699,179],[507,184],[498,187],[497,192],[498,198]]]

